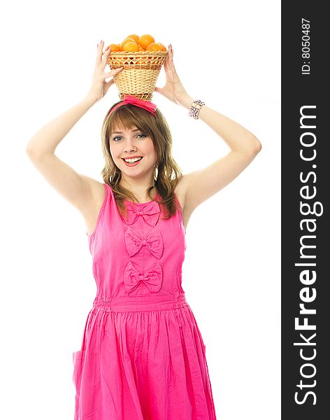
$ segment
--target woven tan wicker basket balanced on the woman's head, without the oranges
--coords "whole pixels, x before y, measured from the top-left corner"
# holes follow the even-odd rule
[[[124,99],[125,94],[131,94],[138,99],[150,101],[167,55],[167,51],[110,52],[110,69],[124,67],[113,77],[120,100]]]

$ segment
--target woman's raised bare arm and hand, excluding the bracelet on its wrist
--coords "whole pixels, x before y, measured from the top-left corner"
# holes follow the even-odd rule
[[[171,45],[168,45],[168,58],[164,69],[166,85],[162,88],[156,87],[156,91],[175,104],[189,109],[194,99],[187,94],[175,71]],[[180,188],[185,197],[183,207],[186,214],[191,214],[199,204],[233,181],[261,151],[261,143],[254,134],[208,106],[201,107],[199,119],[211,127],[231,151],[208,167],[182,176]]]

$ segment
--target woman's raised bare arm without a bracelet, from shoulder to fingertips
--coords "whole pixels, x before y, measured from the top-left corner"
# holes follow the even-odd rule
[[[86,97],[44,125],[26,146],[27,155],[38,172],[50,183],[50,186],[79,209],[84,216],[90,213],[93,206],[97,205],[95,203],[99,197],[98,193],[101,189],[103,190],[103,186],[94,179],[78,174],[55,155],[55,150],[78,120],[106,94],[110,85],[113,85],[111,76],[122,71],[120,68],[105,73],[108,52],[104,53],[102,57],[102,48],[103,43],[98,45],[92,86]],[[109,77],[111,79],[106,82],[105,79]]]

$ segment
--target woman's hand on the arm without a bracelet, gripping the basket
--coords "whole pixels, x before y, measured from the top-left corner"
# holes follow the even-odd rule
[[[106,82],[106,78],[111,76],[115,76],[117,73],[120,73],[124,69],[124,67],[120,67],[120,69],[115,69],[110,71],[109,73],[105,73],[104,69],[106,69],[106,64],[108,62],[108,55],[110,54],[110,47],[108,50],[103,52],[104,42],[101,41],[99,45],[97,45],[97,56],[96,56],[96,63],[94,74],[92,78],[92,86],[87,93],[87,97],[92,97],[92,99],[97,102],[103,98],[103,96],[108,92],[108,89],[111,85],[113,85],[114,80],[111,78],[108,82]]]

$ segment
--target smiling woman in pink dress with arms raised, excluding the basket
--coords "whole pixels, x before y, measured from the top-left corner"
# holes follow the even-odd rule
[[[103,121],[104,182],[78,174],[55,149],[122,71],[106,73],[109,50],[102,52],[103,41],[97,48],[85,99],[27,145],[36,169],[85,218],[93,256],[97,294],[81,349],[73,352],[75,420],[216,419],[205,345],[181,286],[185,230],[194,209],[233,181],[261,144],[238,123],[193,101],[169,45],[166,84],[155,91],[203,120],[231,151],[182,175],[162,113],[127,95]]]

